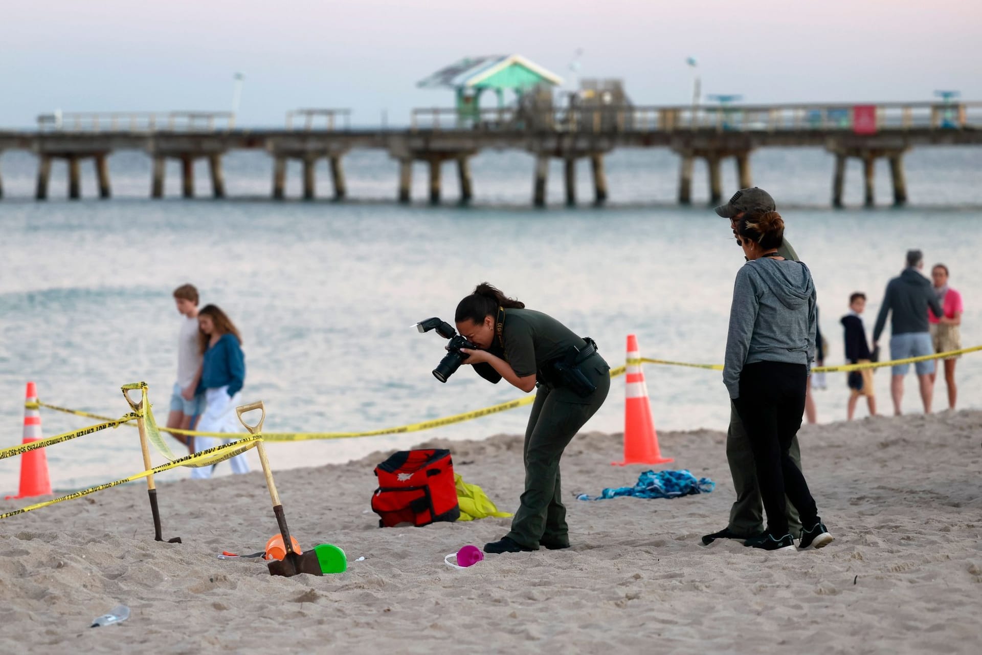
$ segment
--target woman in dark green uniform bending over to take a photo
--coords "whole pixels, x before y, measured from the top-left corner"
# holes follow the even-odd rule
[[[603,405],[610,366],[596,344],[555,318],[506,297],[487,283],[457,305],[458,331],[479,350],[462,349],[482,377],[505,378],[524,392],[538,387],[525,430],[525,490],[512,531],[486,553],[569,548],[559,461],[576,432]]]

